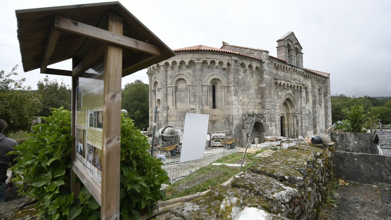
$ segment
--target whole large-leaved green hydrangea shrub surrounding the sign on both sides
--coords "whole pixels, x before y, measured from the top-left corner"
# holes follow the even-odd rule
[[[37,124],[30,138],[15,147],[18,163],[11,168],[13,179],[23,195],[38,200],[39,216],[44,219],[95,220],[100,218],[100,206],[83,187],[79,197],[70,193],[72,167],[70,112],[52,108],[53,115],[42,117],[48,124]],[[148,140],[133,120],[121,115],[121,219],[138,219],[152,213],[159,200],[165,200],[161,184],[170,184],[161,168],[163,163],[147,153]],[[27,186],[23,187],[23,184]]]

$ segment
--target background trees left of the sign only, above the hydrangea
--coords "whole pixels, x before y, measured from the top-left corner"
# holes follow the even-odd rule
[[[34,116],[48,116],[49,108],[63,106],[70,109],[71,89],[63,81],[39,79],[37,90],[23,86],[26,78],[13,79],[18,73],[14,66],[11,72],[0,71],[0,118],[7,121],[7,132],[30,130]]]

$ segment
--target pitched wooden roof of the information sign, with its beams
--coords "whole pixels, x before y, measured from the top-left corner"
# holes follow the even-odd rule
[[[97,34],[105,29],[108,13],[122,17],[123,36],[110,36],[107,31]],[[70,58],[83,60],[90,50],[95,57],[103,56],[103,51],[94,50],[102,41],[123,47],[122,76],[175,55],[119,2],[17,10],[16,18],[25,72],[41,68],[41,73],[50,74],[47,65]],[[70,71],[55,72],[52,74],[72,75]]]

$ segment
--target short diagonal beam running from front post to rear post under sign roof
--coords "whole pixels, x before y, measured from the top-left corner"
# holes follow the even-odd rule
[[[72,76],[77,77],[82,72],[88,70],[91,65],[103,56],[104,43],[99,41],[95,46],[88,52],[83,60],[72,70]]]

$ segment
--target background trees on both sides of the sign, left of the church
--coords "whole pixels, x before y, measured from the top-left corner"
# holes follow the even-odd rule
[[[46,75],[39,79],[37,89],[23,86],[25,78],[15,80],[18,65],[10,72],[0,71],[0,118],[9,124],[8,133],[30,130],[32,117],[49,116],[50,108],[71,109],[69,85],[63,81],[50,80]],[[148,85],[140,80],[127,83],[122,90],[122,108],[134,120],[135,125],[145,130],[149,123]]]

